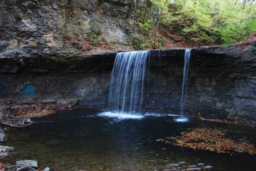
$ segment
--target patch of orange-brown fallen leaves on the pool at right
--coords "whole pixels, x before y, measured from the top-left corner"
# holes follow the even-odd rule
[[[227,136],[227,133],[227,130],[221,129],[196,128],[182,132],[181,136],[156,141],[217,153],[256,154],[256,148],[246,137],[242,139],[232,139]]]

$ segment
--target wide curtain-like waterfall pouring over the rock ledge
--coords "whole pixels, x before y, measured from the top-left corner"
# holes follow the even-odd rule
[[[150,51],[117,53],[111,75],[109,109],[141,112],[147,58]]]

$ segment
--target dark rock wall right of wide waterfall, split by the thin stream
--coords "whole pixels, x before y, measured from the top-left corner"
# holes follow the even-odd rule
[[[255,121],[255,47],[256,42],[192,50],[186,112],[221,119],[242,116]],[[184,59],[175,50],[160,54],[162,64],[158,58],[152,59],[145,105],[179,113]]]

